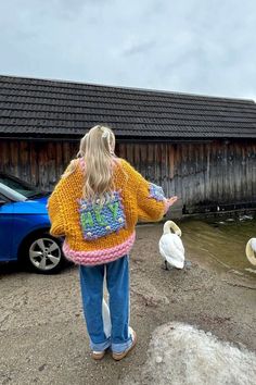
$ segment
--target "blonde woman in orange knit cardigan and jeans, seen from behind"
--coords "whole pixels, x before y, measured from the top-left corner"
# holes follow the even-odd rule
[[[123,359],[137,341],[129,326],[129,252],[138,221],[162,220],[177,197],[166,199],[127,161],[115,157],[111,128],[97,125],[80,141],[48,203],[51,235],[64,236],[63,251],[79,265],[84,314],[94,359],[111,348]],[[103,281],[110,294],[112,331],[102,316]]]

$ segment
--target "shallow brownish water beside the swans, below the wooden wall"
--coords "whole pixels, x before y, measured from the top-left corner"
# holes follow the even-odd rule
[[[256,277],[256,268],[245,256],[248,239],[256,237],[256,219],[187,220],[180,225],[188,257],[195,256],[206,263],[212,260],[219,268]]]

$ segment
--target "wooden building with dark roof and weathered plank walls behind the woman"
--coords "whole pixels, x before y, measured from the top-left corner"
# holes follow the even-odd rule
[[[252,100],[0,76],[0,170],[52,189],[98,123],[183,212],[256,207]]]

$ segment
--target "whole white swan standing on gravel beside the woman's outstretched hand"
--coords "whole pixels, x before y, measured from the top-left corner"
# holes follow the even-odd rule
[[[184,266],[184,247],[180,237],[181,229],[179,226],[172,221],[165,222],[164,234],[159,239],[159,253],[165,260],[166,270],[168,270],[167,263],[177,269],[183,269]]]

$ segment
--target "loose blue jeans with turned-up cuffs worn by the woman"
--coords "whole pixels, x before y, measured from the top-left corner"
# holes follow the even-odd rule
[[[129,257],[95,266],[79,266],[84,314],[94,351],[123,352],[132,344],[129,332]],[[111,335],[104,332],[103,282],[110,294]]]

